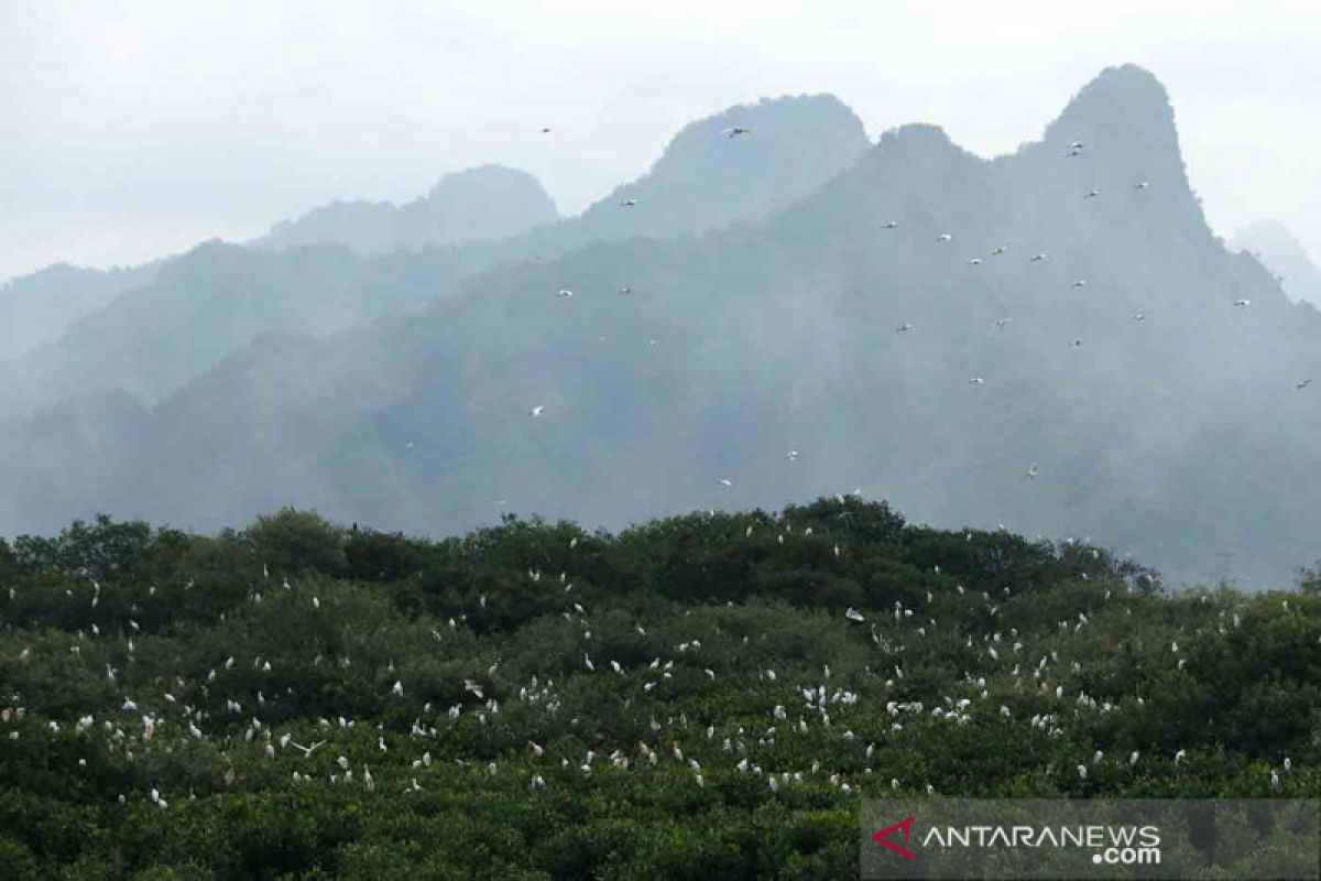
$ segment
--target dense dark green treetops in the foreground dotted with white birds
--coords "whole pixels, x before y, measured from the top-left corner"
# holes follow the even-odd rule
[[[852,497],[98,518],[0,543],[0,877],[849,877],[859,798],[1314,798],[1306,584],[1166,594]]]

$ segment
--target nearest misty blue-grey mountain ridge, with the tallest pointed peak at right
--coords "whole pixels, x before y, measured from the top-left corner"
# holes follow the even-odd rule
[[[749,127],[713,133],[741,148]],[[1012,156],[908,125],[762,219],[613,232],[539,260],[412,255],[394,277],[419,289],[456,255],[473,271],[407,318],[256,338],[104,432],[69,405],[11,424],[0,528],[100,509],[217,528],[287,503],[428,532],[503,510],[609,526],[860,487],[1176,582],[1284,584],[1321,556],[1299,442],[1321,409],[1296,388],[1321,376],[1321,316],[1214,239],[1147,71],[1104,71]]]

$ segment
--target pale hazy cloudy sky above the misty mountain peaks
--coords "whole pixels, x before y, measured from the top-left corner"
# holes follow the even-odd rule
[[[576,211],[762,95],[830,91],[873,139],[930,122],[995,155],[1128,61],[1169,90],[1217,231],[1276,218],[1321,255],[1317,46],[1317,0],[0,0],[0,279],[489,161]]]

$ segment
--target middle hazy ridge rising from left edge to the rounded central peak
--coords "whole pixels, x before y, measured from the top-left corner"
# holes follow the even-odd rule
[[[721,133],[727,122],[753,132],[728,139]],[[26,358],[0,363],[0,419],[96,390],[124,390],[156,404],[262,334],[328,335],[420,310],[497,265],[551,259],[592,242],[683,235],[762,218],[830,180],[865,148],[861,123],[834,98],[765,100],[680,132],[631,185],[641,194],[637,206],[621,206],[612,195],[581,217],[513,239],[378,256],[342,243],[275,250],[205,243],[173,260],[155,284],[87,316]],[[428,217],[461,217],[460,209],[481,201],[478,195],[502,201],[501,193],[513,189],[526,202],[527,190],[540,188],[524,177],[487,166],[448,177],[425,199],[382,211],[417,230]],[[503,207],[483,210],[499,214],[519,201],[511,197]],[[321,221],[308,223],[295,226],[321,229]],[[281,240],[292,244],[299,235],[291,229]]]

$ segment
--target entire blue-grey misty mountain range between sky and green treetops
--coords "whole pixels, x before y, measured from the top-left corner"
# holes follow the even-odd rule
[[[1321,316],[1277,275],[1207,227],[1139,67],[995,159],[762,99],[573,217],[482,166],[11,283],[0,534],[285,505],[618,528],[859,489],[1287,586],[1321,556]]]

